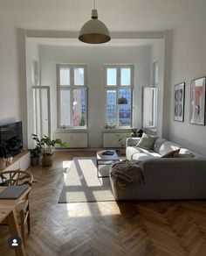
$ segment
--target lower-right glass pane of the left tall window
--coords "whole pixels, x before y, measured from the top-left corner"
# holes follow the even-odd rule
[[[86,126],[86,89],[73,89],[73,126]]]

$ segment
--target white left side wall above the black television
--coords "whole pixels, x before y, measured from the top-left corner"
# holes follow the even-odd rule
[[[20,120],[17,30],[0,17],[0,124]]]

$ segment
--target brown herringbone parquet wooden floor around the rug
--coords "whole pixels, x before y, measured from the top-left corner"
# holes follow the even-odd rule
[[[31,167],[29,256],[54,255],[206,255],[206,201],[141,203],[62,203],[63,164],[93,152],[56,153],[53,167]],[[163,191],[162,191],[163,193]],[[0,231],[0,255],[8,248]]]

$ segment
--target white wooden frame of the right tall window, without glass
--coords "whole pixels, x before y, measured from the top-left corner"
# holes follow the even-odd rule
[[[107,68],[116,68],[117,75],[116,75],[116,85],[107,85]],[[130,68],[130,85],[120,85],[120,70],[121,68]],[[105,127],[106,120],[107,120],[107,111],[106,111],[106,91],[107,90],[115,90],[116,91],[116,129],[131,129],[133,126],[133,112],[134,112],[134,98],[133,98],[133,90],[134,90],[134,65],[133,64],[105,64],[104,66],[104,73],[105,73],[105,82],[104,82],[104,89],[105,89]],[[119,107],[118,107],[118,96],[120,93],[120,89],[131,89],[131,122],[128,126],[120,126],[119,122]]]

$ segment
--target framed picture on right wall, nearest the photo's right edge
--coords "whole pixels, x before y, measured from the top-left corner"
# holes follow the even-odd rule
[[[190,124],[205,124],[205,79],[206,77],[195,79],[190,87]]]

